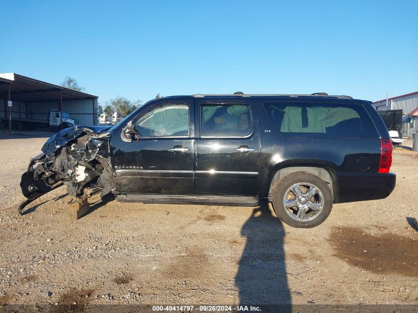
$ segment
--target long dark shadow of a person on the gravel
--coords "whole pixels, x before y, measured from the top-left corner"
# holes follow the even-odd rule
[[[235,276],[239,304],[263,305],[263,312],[291,312],[283,250],[285,233],[267,203],[254,209],[241,235],[247,237],[247,243]]]

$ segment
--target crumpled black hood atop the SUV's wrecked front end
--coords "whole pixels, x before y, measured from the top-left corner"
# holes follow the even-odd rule
[[[42,152],[47,156],[53,156],[56,150],[65,146],[70,140],[74,140],[83,132],[86,134],[100,134],[105,133],[111,126],[75,126],[63,129],[46,140],[42,147]]]

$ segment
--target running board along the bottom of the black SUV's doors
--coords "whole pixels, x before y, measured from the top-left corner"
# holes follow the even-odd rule
[[[213,196],[213,195],[168,195],[168,194],[121,194],[120,202],[167,203],[167,204],[203,204],[255,207],[260,199],[249,196]]]

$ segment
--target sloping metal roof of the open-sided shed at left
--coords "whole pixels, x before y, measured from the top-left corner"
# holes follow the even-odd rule
[[[16,73],[0,74],[0,99],[7,99],[7,88],[10,84],[12,101],[42,102],[59,101],[62,91],[62,100],[94,99],[97,96],[58,85],[39,81]]]

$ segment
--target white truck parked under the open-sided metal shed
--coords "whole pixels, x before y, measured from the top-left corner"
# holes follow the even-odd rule
[[[28,113],[30,115],[30,113]],[[9,118],[1,118],[1,123],[4,127],[8,126]],[[62,112],[62,128],[68,128],[73,126],[80,126],[80,121],[73,119],[70,115],[63,111]],[[37,120],[37,119],[18,119],[15,117],[11,118],[11,127],[13,129],[30,129],[35,130],[38,128],[48,128],[51,131],[58,131],[61,129],[61,112],[58,110],[49,110],[48,112],[48,119],[45,120]]]

